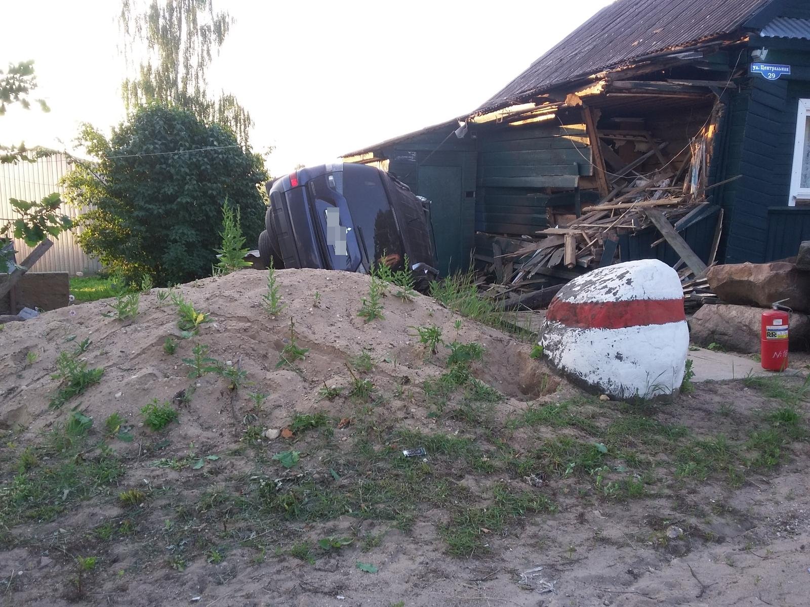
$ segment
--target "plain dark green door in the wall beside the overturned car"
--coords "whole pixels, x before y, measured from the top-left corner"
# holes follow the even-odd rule
[[[420,167],[419,195],[428,198],[436,257],[442,276],[467,270],[470,252],[462,238],[461,167]]]

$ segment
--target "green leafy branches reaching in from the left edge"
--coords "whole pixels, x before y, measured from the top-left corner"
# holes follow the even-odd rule
[[[19,62],[10,64],[4,72],[0,70],[0,116],[6,113],[11,104],[20,104],[25,109],[31,108],[28,96],[36,88],[34,75],[34,62]],[[36,103],[44,112],[49,112],[44,100],[38,99]],[[53,154],[53,151],[35,148],[28,150],[24,143],[19,145],[0,144],[0,164],[16,164],[18,162],[36,162],[37,158]],[[13,230],[15,238],[22,238],[25,244],[33,247],[40,244],[48,236],[59,236],[63,230],[71,227],[70,218],[59,213],[62,200],[58,193],[52,193],[40,202],[28,202],[10,198],[9,202],[17,219],[6,219],[0,222],[0,271],[6,270],[6,263],[13,259],[14,250],[9,246],[11,238],[7,236]]]

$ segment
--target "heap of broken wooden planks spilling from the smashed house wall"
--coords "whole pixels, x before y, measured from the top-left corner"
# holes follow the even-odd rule
[[[706,137],[697,136],[679,163],[677,158],[667,161],[661,156],[663,144],[653,144],[648,155],[659,155],[662,165],[652,174],[634,173],[633,168],[640,163],[615,173],[605,172],[610,187],[607,195],[595,204],[576,209],[565,224],[539,231],[535,238],[496,239],[492,257],[479,257],[481,261],[491,259],[485,271],[495,274],[487,295],[500,300],[499,305],[505,309],[545,307],[561,283],[587,270],[611,265],[620,234],[650,226],[661,234],[652,246],[666,241],[680,255],[674,268],[684,287],[691,288],[690,297],[705,295],[699,279],[707,266],[679,232],[719,212],[710,261],[714,260],[723,211],[706,204],[706,190],[714,187],[706,185],[709,147]]]

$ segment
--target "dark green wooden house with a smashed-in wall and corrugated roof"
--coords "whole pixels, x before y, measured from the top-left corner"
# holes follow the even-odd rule
[[[810,239],[810,2],[616,0],[474,112],[353,151],[433,201],[442,272],[509,307],[600,265]]]

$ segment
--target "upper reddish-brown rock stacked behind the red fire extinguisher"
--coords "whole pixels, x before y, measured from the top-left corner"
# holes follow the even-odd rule
[[[774,301],[787,299],[785,304],[796,312],[810,312],[810,274],[787,261],[715,265],[706,278],[727,304],[770,308]]]

